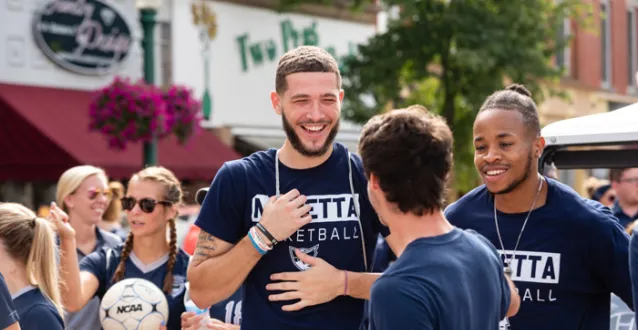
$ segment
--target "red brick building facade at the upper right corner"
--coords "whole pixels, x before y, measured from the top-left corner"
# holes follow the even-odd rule
[[[583,116],[638,102],[638,1],[585,0],[593,6],[592,25],[566,22],[572,37],[557,57],[565,67],[560,89],[568,99],[549,99],[540,106],[541,123]],[[604,176],[605,172],[595,172]],[[583,192],[582,182],[591,171],[561,171],[561,181]]]

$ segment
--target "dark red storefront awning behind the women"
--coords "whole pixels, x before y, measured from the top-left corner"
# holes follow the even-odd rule
[[[0,84],[0,181],[57,181],[72,166],[104,168],[125,179],[142,168],[141,143],[125,151],[107,147],[89,132],[86,91]],[[159,142],[158,161],[180,179],[211,180],[224,162],[240,155],[213,133],[201,132],[186,147],[173,137]]]

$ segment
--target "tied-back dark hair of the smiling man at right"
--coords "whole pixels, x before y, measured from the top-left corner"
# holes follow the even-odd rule
[[[523,115],[525,127],[531,135],[541,135],[541,124],[538,119],[538,109],[532,99],[532,93],[523,85],[513,84],[504,90],[496,91],[490,95],[479,109],[479,113],[491,110],[515,110]]]

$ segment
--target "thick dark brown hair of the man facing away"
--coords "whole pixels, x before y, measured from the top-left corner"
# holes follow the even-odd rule
[[[359,140],[368,179],[374,174],[389,202],[417,216],[444,208],[453,148],[445,120],[420,105],[372,117]]]

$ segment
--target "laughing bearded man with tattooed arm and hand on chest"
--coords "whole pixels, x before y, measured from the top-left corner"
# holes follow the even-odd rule
[[[227,162],[195,222],[202,231],[189,265],[200,308],[243,285],[241,328],[357,329],[378,274],[368,273],[379,223],[361,159],[334,138],[341,75],[318,47],[279,60],[273,109],[280,149]]]

